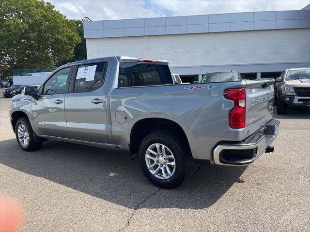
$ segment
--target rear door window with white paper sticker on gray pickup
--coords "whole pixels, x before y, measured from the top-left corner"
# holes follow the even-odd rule
[[[74,92],[87,92],[103,85],[107,62],[79,65],[74,83]]]

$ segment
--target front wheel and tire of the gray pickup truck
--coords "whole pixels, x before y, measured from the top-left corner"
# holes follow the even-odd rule
[[[22,117],[17,120],[15,134],[18,145],[24,151],[34,151],[42,146],[42,142],[35,142],[34,132],[27,117]]]

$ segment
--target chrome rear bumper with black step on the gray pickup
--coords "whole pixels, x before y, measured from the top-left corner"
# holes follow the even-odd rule
[[[241,142],[220,142],[213,151],[217,165],[243,166],[257,160],[264,152],[274,151],[270,146],[279,132],[279,121],[272,119],[260,130]]]

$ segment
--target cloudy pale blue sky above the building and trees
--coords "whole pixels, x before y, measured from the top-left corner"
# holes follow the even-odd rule
[[[69,19],[111,20],[300,10],[310,0],[47,0]]]

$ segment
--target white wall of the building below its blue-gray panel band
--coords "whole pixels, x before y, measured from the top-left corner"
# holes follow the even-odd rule
[[[310,29],[96,38],[86,43],[88,58],[167,59],[171,67],[310,62]]]

